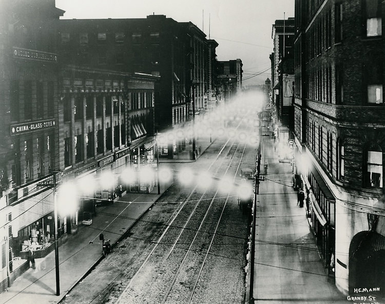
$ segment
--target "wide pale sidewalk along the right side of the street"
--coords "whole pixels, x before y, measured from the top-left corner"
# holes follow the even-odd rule
[[[257,196],[254,302],[347,303],[328,280],[305,208],[297,206],[291,165],[278,162],[272,139],[263,138],[263,149],[261,168],[267,163],[268,170]]]

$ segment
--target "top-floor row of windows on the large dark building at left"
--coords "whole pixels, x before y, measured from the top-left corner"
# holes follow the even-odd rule
[[[81,46],[87,46],[90,42],[90,39],[95,40],[99,45],[104,45],[107,42],[107,38],[111,35],[113,37],[114,35],[114,41],[115,44],[123,44],[125,40],[125,34],[123,32],[116,32],[114,34],[108,34],[106,32],[100,32],[96,35],[89,34],[89,33],[79,33],[79,34],[70,34],[68,32],[61,33],[61,41],[62,44],[68,44],[71,41],[71,36],[78,36],[79,37],[79,45]],[[76,38],[78,38],[76,37]],[[92,38],[90,38],[92,37]],[[111,39],[112,39],[111,37]],[[159,32],[151,32],[148,34],[148,37],[151,40],[158,40],[159,39]],[[76,39],[75,38],[75,39]],[[131,34],[131,41],[134,43],[139,43],[142,41],[142,33],[140,32],[134,32]]]

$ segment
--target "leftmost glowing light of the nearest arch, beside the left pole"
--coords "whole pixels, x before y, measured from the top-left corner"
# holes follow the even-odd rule
[[[66,216],[78,210],[78,188],[73,182],[59,186],[56,193],[57,213]]]

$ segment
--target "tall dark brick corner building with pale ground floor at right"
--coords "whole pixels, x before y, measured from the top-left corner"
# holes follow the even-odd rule
[[[296,170],[325,267],[350,295],[385,293],[384,14],[380,0],[295,2]]]

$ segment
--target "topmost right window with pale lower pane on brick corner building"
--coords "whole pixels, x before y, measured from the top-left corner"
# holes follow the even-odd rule
[[[367,37],[382,35],[381,0],[365,0]]]

